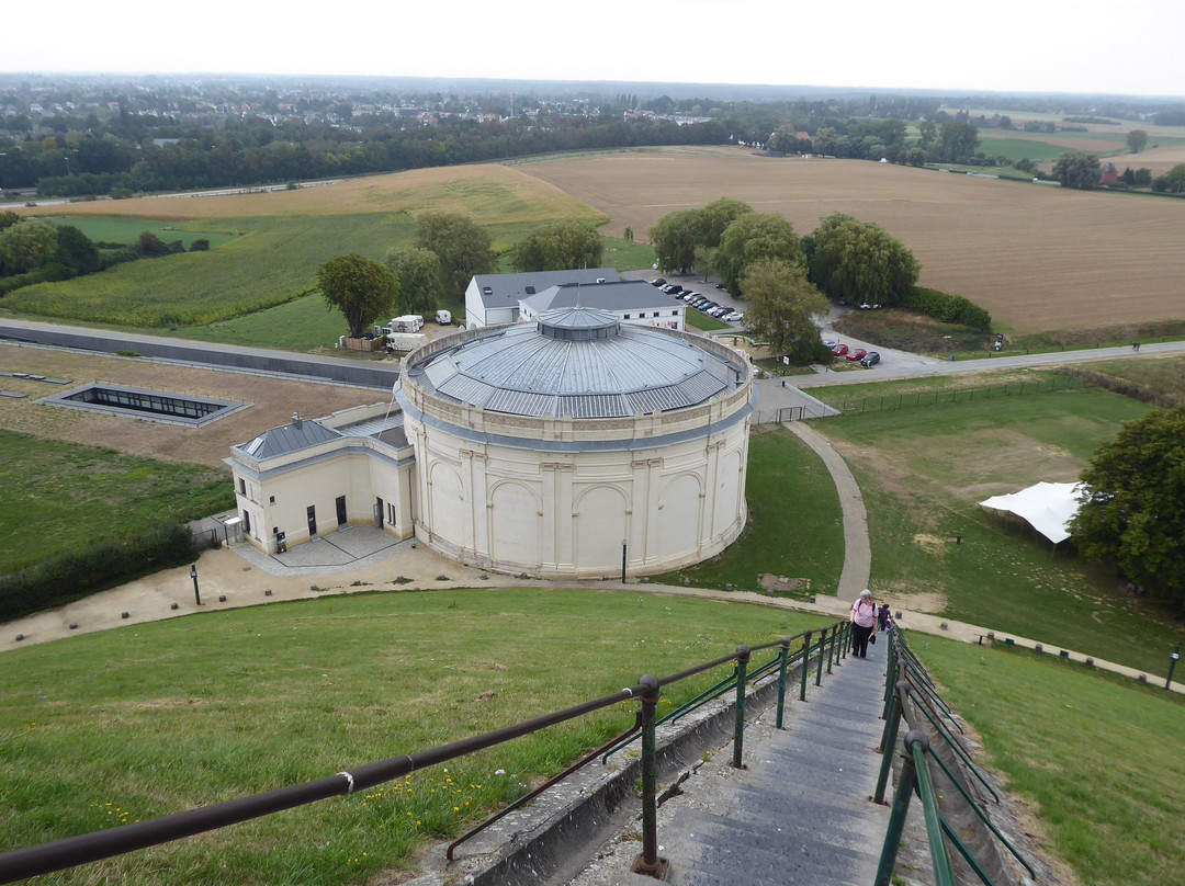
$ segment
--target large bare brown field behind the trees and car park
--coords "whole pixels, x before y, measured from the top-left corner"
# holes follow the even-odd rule
[[[809,233],[846,212],[901,238],[921,283],[971,298],[998,328],[1081,329],[1185,317],[1185,200],[1064,191],[858,160],[653,150],[519,167],[640,238],[672,210],[734,197]]]

